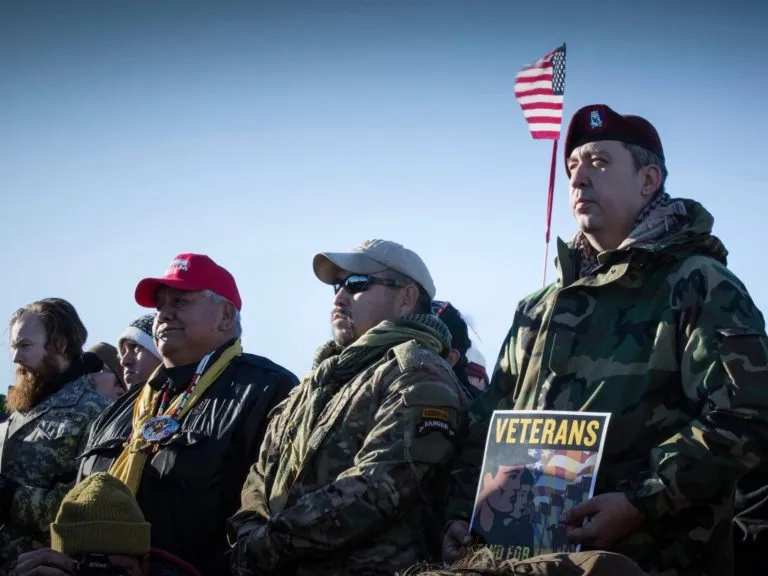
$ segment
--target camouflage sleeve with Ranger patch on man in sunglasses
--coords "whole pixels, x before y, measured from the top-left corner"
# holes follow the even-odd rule
[[[462,402],[457,385],[419,371],[394,380],[372,424],[347,423],[351,433],[370,427],[354,465],[253,531],[245,542],[249,563],[271,572],[285,557],[333,555],[421,505],[431,472],[454,455]]]

